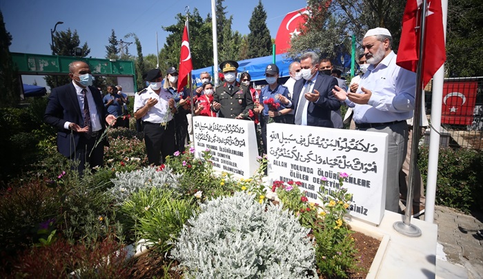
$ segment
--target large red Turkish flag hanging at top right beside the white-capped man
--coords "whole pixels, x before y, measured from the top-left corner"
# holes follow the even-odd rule
[[[406,3],[396,60],[397,65],[412,72],[417,70],[417,61],[420,54],[420,11],[418,11],[420,6],[422,7],[422,0],[408,0]],[[425,16],[426,39],[422,57],[422,87],[431,81],[433,75],[446,61],[441,0],[428,0],[428,9]]]

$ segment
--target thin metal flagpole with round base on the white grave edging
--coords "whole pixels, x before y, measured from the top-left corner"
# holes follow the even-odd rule
[[[423,0],[422,6],[418,8],[420,10],[420,26],[416,26],[416,31],[419,28],[419,40],[420,40],[420,53],[417,60],[417,72],[416,72],[416,94],[414,101],[414,116],[413,116],[413,137],[411,138],[411,158],[409,159],[409,175],[408,175],[408,192],[406,195],[406,213],[404,214],[404,222],[395,222],[393,228],[395,231],[409,237],[421,236],[421,229],[411,224],[411,213],[413,211],[413,187],[414,187],[414,167],[416,165],[417,148],[419,145],[420,136],[420,120],[421,120],[421,99],[423,92],[423,55],[424,55],[424,43],[426,32],[426,10],[428,3]]]

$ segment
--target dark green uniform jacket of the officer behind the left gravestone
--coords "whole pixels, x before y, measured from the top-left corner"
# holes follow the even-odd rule
[[[213,94],[213,101],[221,104],[219,117],[236,118],[239,114],[246,114],[253,109],[250,90],[239,83],[233,83],[233,91],[230,93],[228,86],[228,83],[224,83]]]

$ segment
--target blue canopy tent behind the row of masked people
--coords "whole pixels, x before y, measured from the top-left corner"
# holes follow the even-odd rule
[[[280,73],[279,73],[280,77],[289,75],[288,65],[290,65],[292,61],[293,60],[286,57],[285,54],[278,54],[275,56],[275,64],[280,70]],[[252,81],[265,80],[264,74],[265,74],[266,65],[271,63],[273,63],[272,55],[238,61],[237,79],[239,79],[239,75],[242,74],[242,72],[248,72],[252,77]],[[196,83],[197,86],[201,85],[201,79],[199,78],[199,75],[202,72],[209,72],[211,76],[213,76],[213,67],[206,67],[198,70],[193,70],[193,81]]]

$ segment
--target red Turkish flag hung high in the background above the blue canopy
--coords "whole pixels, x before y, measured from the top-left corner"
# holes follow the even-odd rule
[[[289,12],[285,17],[277,31],[277,37],[275,37],[275,45],[277,50],[275,54],[281,54],[287,52],[290,48],[290,39],[300,34],[300,30],[306,23],[306,17],[302,14],[308,14],[306,8]]]

